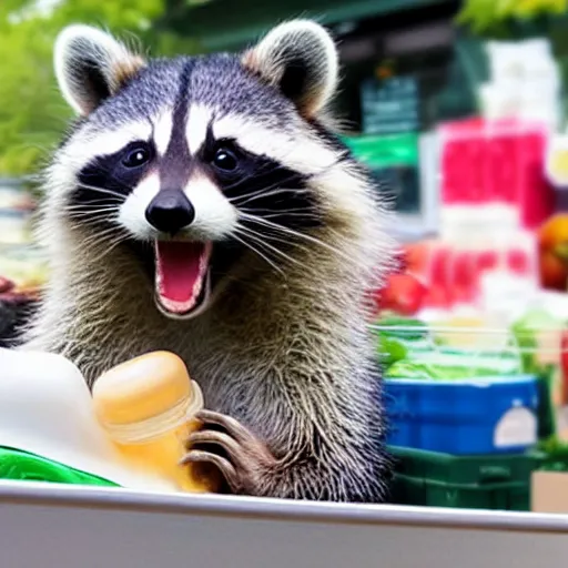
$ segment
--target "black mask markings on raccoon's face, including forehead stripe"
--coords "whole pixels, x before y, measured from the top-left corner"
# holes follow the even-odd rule
[[[84,207],[85,213],[89,209],[94,212],[104,205],[118,207],[151,172],[159,175],[161,191],[183,191],[191,183],[192,173],[200,170],[201,174],[207,175],[217,184],[226,199],[242,213],[240,224],[247,231],[254,231],[257,239],[272,246],[284,250],[287,243],[294,241],[294,233],[321,226],[324,214],[317,195],[310,187],[310,176],[288,169],[267,155],[252,154],[240,148],[235,140],[215,140],[212,125],[209,126],[206,139],[197,154],[190,154],[185,130],[189,105],[194,102],[190,89],[193,69],[194,63],[187,62],[180,70],[172,131],[164,154],[158,155],[150,140],[133,142],[120,152],[98,156],[79,174],[72,202]],[[141,142],[149,145],[151,160],[140,168],[124,168],[125,154]],[[214,160],[215,152],[220,149],[226,149],[231,154],[231,160],[224,161],[232,164],[226,171],[221,168],[222,161]],[[233,159],[236,159],[234,168]],[[199,215],[199,211],[196,214]],[[82,219],[89,221],[87,215]],[[104,214],[97,219],[99,221],[93,222],[103,220]],[[115,221],[108,220],[106,226],[110,223]],[[246,236],[244,240],[246,241]],[[140,257],[153,280],[152,244],[132,239],[126,242],[126,246]],[[231,237],[213,243],[213,288],[241,261],[246,251],[242,242]]]

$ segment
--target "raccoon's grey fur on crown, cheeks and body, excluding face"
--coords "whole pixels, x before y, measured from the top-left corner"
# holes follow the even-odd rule
[[[275,470],[258,474],[258,495],[381,501],[388,459],[365,294],[390,262],[385,212],[361,168],[303,122],[274,85],[234,55],[213,55],[193,60],[189,91],[193,102],[296,133],[298,143],[303,134],[294,129],[302,124],[336,154],[311,183],[326,204],[324,226],[287,258],[277,257],[280,272],[250,252],[205,313],[170,320],[156,308],[152,282],[129,248],[115,235],[72,221],[65,210],[73,191],[61,178],[65,148],[171,105],[186,61],[149,62],[54,155],[41,226],[51,280],[24,348],[68,356],[89,384],[136,355],[175,352],[202,386],[206,407],[237,418],[277,458]]]

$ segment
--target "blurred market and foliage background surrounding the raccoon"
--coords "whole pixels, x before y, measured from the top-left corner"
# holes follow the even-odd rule
[[[48,277],[30,227],[36,176],[71,118],[52,71],[59,30],[91,23],[154,55],[192,54],[242,50],[295,17],[315,18],[337,39],[342,136],[395,210],[400,266],[374,291],[398,428],[390,444],[413,471],[438,471],[426,481],[399,471],[399,498],[526,509],[537,467],[527,449],[538,442],[550,456],[554,446],[568,469],[568,445],[558,449],[568,436],[568,0],[2,0],[0,344],[13,339]],[[417,324],[427,341],[405,332]],[[459,396],[438,389],[427,415],[436,381],[473,376],[493,385],[477,406],[467,385]],[[405,390],[399,379],[413,377],[425,389]],[[469,426],[479,420],[471,432],[467,416]],[[467,487],[449,487],[436,469],[442,458],[400,448],[518,455],[476,462]],[[520,473],[480,489],[487,464]]]

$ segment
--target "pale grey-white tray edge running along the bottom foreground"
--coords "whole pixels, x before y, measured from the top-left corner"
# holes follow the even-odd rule
[[[564,566],[568,516],[0,483],[2,568]]]

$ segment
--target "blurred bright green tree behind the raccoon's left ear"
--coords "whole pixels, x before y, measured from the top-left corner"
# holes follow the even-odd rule
[[[165,3],[0,0],[0,175],[34,173],[71,116],[53,77],[52,49],[58,32],[68,23],[90,23],[152,53],[195,51],[191,39],[153,26]]]

